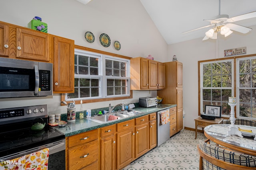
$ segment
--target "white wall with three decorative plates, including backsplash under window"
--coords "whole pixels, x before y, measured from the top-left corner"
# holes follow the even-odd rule
[[[48,33],[74,39],[76,45],[107,51],[128,57],[147,57],[156,61],[166,61],[168,45],[138,0],[92,0],[87,5],[76,0],[6,0],[0,2],[0,21],[26,27],[27,23],[40,16],[48,24]],[[84,39],[90,31],[95,36],[94,43]],[[111,39],[110,47],[100,45],[99,36],[106,33]],[[121,49],[116,51],[114,41],[119,41]],[[156,96],[154,91],[134,91],[128,103],[138,102],[139,97]],[[121,101],[83,104],[84,109],[108,107],[109,103]],[[2,98],[0,108],[47,104],[49,114],[66,113],[60,106],[60,95],[32,98]],[[77,105],[76,110],[80,109]]]

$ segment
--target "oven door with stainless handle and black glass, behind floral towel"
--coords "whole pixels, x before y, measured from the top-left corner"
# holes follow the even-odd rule
[[[65,169],[65,148],[66,148],[65,139],[56,141],[53,143],[49,143],[40,147],[36,147],[33,149],[28,149],[18,153],[7,155],[0,158],[0,160],[2,160],[2,162],[4,163],[4,161],[7,162],[7,160],[19,158],[21,156],[28,155],[33,152],[38,152],[45,148],[49,148],[48,170],[64,170]]]

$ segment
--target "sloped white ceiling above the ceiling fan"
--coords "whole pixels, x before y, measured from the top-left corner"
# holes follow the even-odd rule
[[[256,11],[256,0],[140,0],[140,2],[168,45],[196,38],[203,39],[209,27],[182,33],[209,25],[210,22],[203,20],[212,19],[218,16],[219,12],[231,18]],[[256,18],[234,23],[250,27],[256,25]],[[256,30],[252,29],[252,31]],[[244,35],[234,31],[232,34],[250,36],[250,32]]]

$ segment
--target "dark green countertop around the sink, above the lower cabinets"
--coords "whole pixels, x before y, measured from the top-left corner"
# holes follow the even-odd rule
[[[124,118],[124,119],[117,119],[117,120],[114,120],[114,121],[109,121],[109,122],[106,122],[106,123],[98,123],[98,122],[95,122],[95,121],[91,121],[89,119],[76,119],[76,121],[73,123],[73,122],[68,122],[68,125],[70,127],[58,127],[58,126],[55,126],[54,128],[57,129],[58,131],[61,131],[62,133],[65,134],[66,137],[69,137],[69,136],[72,136],[72,135],[76,135],[76,134],[79,134],[79,133],[83,133],[83,132],[86,132],[86,131],[91,131],[91,130],[94,130],[94,129],[98,129],[98,128],[101,128],[101,127],[105,127],[105,126],[108,126],[108,125],[113,125],[113,124],[116,124],[116,123],[120,123],[120,122],[123,122],[123,121],[127,121],[127,120],[130,120],[130,119],[134,119],[134,118],[137,118],[137,117],[141,117],[141,116],[144,116],[144,115],[148,115],[150,113],[153,113],[153,112],[156,112],[156,111],[160,111],[160,110],[164,110],[164,109],[168,109],[168,108],[171,108],[171,107],[176,107],[177,105],[176,104],[170,104],[170,105],[164,105],[164,104],[160,104],[158,106],[152,106],[152,107],[135,107],[133,108],[132,110],[136,110],[136,111],[142,111],[143,113],[140,113],[140,114],[137,114],[137,115],[134,115],[134,116],[130,116],[130,117],[127,117],[127,118]]]

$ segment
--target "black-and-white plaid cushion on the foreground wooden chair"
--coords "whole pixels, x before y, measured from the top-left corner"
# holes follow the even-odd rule
[[[221,147],[217,147],[216,145],[210,145],[205,143],[204,141],[199,141],[199,148],[205,152],[206,154],[217,158],[219,160],[223,160],[225,162],[230,162],[232,164],[248,166],[248,167],[256,167],[256,157],[240,154],[238,152],[232,152],[230,150],[225,150]],[[203,159],[203,167],[207,170],[223,170],[222,168],[218,168],[218,166],[211,164],[210,162]]]

